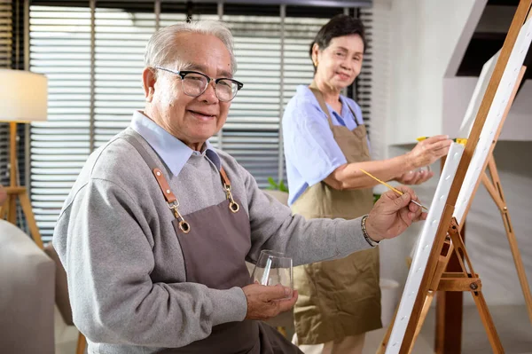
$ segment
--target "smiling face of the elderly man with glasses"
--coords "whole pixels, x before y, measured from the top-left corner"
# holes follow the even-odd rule
[[[223,42],[214,35],[184,33],[177,37],[175,48],[179,60],[190,63],[186,70],[197,71],[211,78],[232,78],[231,55]],[[176,69],[174,64],[166,68]],[[146,83],[147,82],[147,83]],[[146,99],[151,102],[148,114],[162,128],[192,149],[200,150],[203,143],[222,129],[231,102],[216,97],[215,83],[198,97],[184,93],[182,79],[166,71],[157,70],[157,79],[146,79]],[[153,86],[153,90],[149,90]]]

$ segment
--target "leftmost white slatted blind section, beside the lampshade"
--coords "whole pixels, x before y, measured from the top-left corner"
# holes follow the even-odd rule
[[[30,68],[48,76],[48,122],[31,128],[35,219],[51,236],[90,153],[90,9],[31,6]]]

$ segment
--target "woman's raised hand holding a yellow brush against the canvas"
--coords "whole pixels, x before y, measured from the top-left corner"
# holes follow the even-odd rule
[[[407,159],[414,169],[431,165],[449,153],[451,143],[452,140],[445,135],[426,138],[414,146],[410,153],[407,153]]]

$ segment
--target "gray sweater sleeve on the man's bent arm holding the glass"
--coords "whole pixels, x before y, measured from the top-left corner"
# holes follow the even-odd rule
[[[239,287],[154,283],[153,237],[120,186],[92,178],[59,217],[53,244],[65,265],[74,323],[92,342],[182,347],[212,326],[243,320]]]

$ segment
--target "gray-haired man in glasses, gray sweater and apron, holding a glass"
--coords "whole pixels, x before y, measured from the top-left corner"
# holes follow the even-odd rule
[[[90,155],[59,216],[74,323],[90,353],[298,353],[259,319],[297,292],[250,284],[274,249],[307,264],[372,248],[426,215],[386,193],[356,220],[292,216],[208,142],[242,83],[230,31],[163,28],[145,51],[145,110]]]

